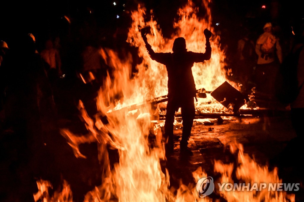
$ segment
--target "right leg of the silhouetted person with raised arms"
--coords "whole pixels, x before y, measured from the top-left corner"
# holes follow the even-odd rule
[[[191,134],[193,119],[195,116],[194,98],[185,100],[181,107],[181,117],[183,120],[183,133],[181,137],[181,149],[188,146],[188,139]]]

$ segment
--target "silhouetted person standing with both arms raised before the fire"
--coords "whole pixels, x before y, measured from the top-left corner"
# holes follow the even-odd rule
[[[208,29],[204,30],[204,35],[206,36],[205,53],[187,51],[186,40],[182,37],[174,40],[173,53],[155,53],[147,42],[146,30],[147,28],[143,29],[141,35],[151,59],[164,64],[168,72],[168,104],[165,120],[166,152],[173,152],[174,114],[181,107],[183,121],[183,132],[180,141],[181,152],[192,155],[192,151],[188,149],[188,139],[195,116],[194,98],[197,90],[191,68],[194,62],[204,62],[211,58],[209,38],[212,33]]]

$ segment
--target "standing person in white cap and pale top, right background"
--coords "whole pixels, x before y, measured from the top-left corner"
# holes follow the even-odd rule
[[[264,33],[259,36],[255,46],[258,55],[255,82],[256,90],[261,93],[273,94],[275,76],[279,64],[282,63],[282,49],[279,40],[272,34],[272,25],[267,22]]]

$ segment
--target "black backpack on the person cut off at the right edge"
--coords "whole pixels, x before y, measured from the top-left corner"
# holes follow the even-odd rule
[[[295,101],[302,89],[303,83],[299,86],[297,72],[299,56],[303,45],[295,52],[290,52],[282,64],[276,77],[276,97],[283,104],[290,104]]]

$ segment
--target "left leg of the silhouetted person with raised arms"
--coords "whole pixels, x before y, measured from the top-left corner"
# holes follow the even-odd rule
[[[173,151],[173,123],[174,115],[176,111],[176,104],[173,98],[168,99],[167,109],[166,109],[166,119],[165,119],[165,140],[166,140],[166,149],[170,152]]]

